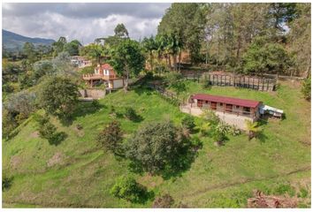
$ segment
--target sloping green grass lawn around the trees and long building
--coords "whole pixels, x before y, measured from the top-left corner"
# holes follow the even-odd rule
[[[164,179],[149,174],[134,174],[156,195],[169,193],[176,202],[195,208],[246,207],[254,189],[278,193],[281,184],[309,191],[310,198],[310,104],[302,99],[300,88],[281,83],[277,92],[266,93],[234,87],[203,89],[187,82],[187,92],[208,93],[254,99],[284,110],[286,119],[270,119],[263,125],[263,139],[228,136],[225,146],[216,147],[209,137],[202,137],[190,169],[179,176]],[[133,107],[143,120],[134,123],[118,117],[126,137],[149,121],[171,119],[176,125],[186,115],[155,92],[136,89],[125,94],[107,95],[101,107],[93,110],[90,102],[80,102],[73,123],[58,131],[67,137],[51,146],[36,133],[34,120],[21,126],[11,140],[3,141],[3,172],[13,176],[11,188],[3,192],[4,207],[90,207],[150,208],[153,200],[134,204],[110,194],[118,176],[131,173],[128,162],[96,146],[95,137],[110,122],[111,106],[118,112]],[[82,130],[77,130],[76,125]],[[305,201],[302,207],[310,207]]]

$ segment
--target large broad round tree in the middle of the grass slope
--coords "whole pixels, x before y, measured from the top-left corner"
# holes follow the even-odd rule
[[[190,140],[172,122],[152,122],[143,125],[128,141],[126,155],[142,170],[156,174],[166,168],[179,169],[179,156],[190,145]]]

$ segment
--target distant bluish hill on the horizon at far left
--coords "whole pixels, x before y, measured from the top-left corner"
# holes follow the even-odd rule
[[[2,39],[4,48],[8,50],[21,49],[26,42],[32,42],[35,46],[51,45],[55,42],[52,39],[26,37],[4,29],[2,30]]]

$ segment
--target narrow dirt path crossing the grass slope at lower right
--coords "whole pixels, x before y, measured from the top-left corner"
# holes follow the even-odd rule
[[[311,167],[310,166],[303,167],[302,169],[292,170],[292,171],[289,171],[285,174],[275,175],[275,176],[271,176],[269,178],[246,178],[246,179],[243,179],[241,181],[237,181],[237,182],[233,182],[233,183],[217,185],[217,186],[209,186],[209,187],[203,188],[202,190],[196,191],[195,193],[188,193],[187,195],[183,195],[182,197],[183,198],[191,197],[191,196],[195,196],[195,195],[200,195],[202,193],[207,193],[207,192],[210,192],[212,190],[223,189],[226,187],[238,186],[238,185],[242,185],[242,184],[247,184],[247,183],[257,182],[257,181],[263,181],[263,180],[268,180],[268,179],[273,179],[273,178],[286,177],[286,176],[293,175],[295,173],[299,173],[299,172],[303,172],[303,171],[307,171],[307,170],[311,170]]]

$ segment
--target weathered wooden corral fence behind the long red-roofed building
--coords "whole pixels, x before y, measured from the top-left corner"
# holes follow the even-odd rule
[[[246,87],[259,91],[274,91],[277,78],[252,77],[242,75],[227,75],[217,73],[194,73],[185,75],[186,79],[208,81],[211,86]]]

